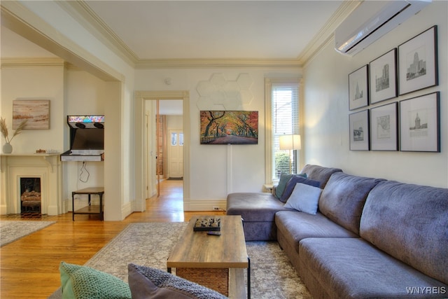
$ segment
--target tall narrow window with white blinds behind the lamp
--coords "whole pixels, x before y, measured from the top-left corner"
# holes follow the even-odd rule
[[[300,134],[299,81],[266,79],[266,170],[267,182],[276,181],[281,173],[297,173],[297,150],[281,150],[282,135]],[[269,131],[269,130],[267,130]]]

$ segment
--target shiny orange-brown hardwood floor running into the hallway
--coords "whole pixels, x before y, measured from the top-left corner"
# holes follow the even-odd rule
[[[183,211],[183,181],[162,181],[160,197],[146,200],[146,211],[124,221],[100,221],[94,215],[47,216],[57,223],[0,249],[0,298],[47,298],[60,286],[59,263],[83,265],[132,222],[183,222],[195,215],[223,211]],[[13,220],[0,216],[1,220]],[[17,219],[20,221],[20,218]],[[40,221],[40,220],[35,220]]]

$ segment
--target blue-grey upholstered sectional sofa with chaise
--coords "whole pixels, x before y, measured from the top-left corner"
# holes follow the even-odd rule
[[[316,214],[269,193],[228,195],[246,240],[276,240],[313,298],[448,298],[448,189],[306,165]],[[277,194],[278,195],[278,194]]]

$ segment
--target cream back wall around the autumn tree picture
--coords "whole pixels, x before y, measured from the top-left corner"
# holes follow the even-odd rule
[[[225,110],[259,111],[257,145],[201,145],[200,110],[223,110],[223,105],[205,100],[197,85],[214,74],[236,81],[248,74],[252,84],[249,102],[232,102]],[[201,201],[224,201],[231,192],[261,192],[265,183],[265,77],[299,77],[300,69],[158,69],[136,70],[136,90],[188,90],[190,92],[190,200],[191,209]],[[172,78],[165,85],[165,78]],[[209,101],[209,102],[207,102]],[[210,207],[211,208],[211,205]]]

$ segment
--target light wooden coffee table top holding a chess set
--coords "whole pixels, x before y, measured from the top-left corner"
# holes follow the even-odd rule
[[[194,231],[197,218],[221,218],[221,236]],[[174,246],[167,267],[247,268],[241,216],[193,216]]]

